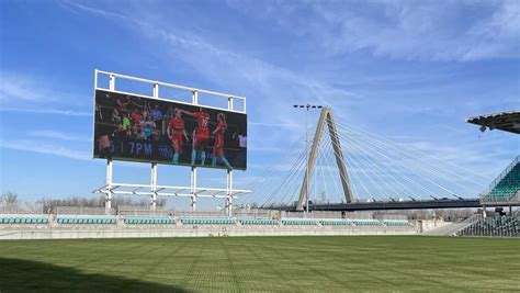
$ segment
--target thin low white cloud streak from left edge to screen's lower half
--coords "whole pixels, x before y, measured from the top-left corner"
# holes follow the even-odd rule
[[[47,145],[33,140],[0,142],[0,147],[5,149],[24,150],[44,155],[52,155],[76,160],[91,160],[92,155],[87,151],[70,149],[58,145]]]

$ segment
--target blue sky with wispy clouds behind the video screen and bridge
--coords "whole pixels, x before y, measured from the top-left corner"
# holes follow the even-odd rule
[[[464,119],[520,109],[518,1],[1,1],[1,190],[89,195],[94,68],[246,95],[262,178],[304,132],[294,103],[495,177],[518,136]],[[315,113],[313,119],[317,117]],[[203,170],[202,182],[225,183]],[[147,182],[122,164],[121,181]],[[182,168],[159,183],[184,183]]]

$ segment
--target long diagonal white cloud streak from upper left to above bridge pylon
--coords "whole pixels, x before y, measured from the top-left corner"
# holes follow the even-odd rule
[[[115,13],[101,9],[92,11],[91,8],[84,5],[74,7],[108,19],[112,19],[110,15]],[[237,94],[251,94],[252,97],[249,95],[248,99],[256,99],[257,101],[249,103],[249,105],[261,103],[265,109],[269,109],[269,111],[259,111],[249,106],[249,114],[253,113],[259,121],[298,127],[298,129],[291,132],[270,131],[265,133],[262,131],[262,135],[249,135],[251,145],[255,144],[260,149],[271,148],[272,145],[280,142],[293,142],[303,132],[305,125],[302,123],[303,113],[296,115],[292,109],[292,101],[295,99],[297,99],[296,101],[304,100],[305,102],[316,102],[324,105],[335,104],[337,106],[348,106],[362,101],[358,93],[332,87],[327,82],[299,75],[265,60],[217,46],[201,35],[178,30],[171,23],[156,23],[155,18],[147,19],[149,14],[146,14],[144,10],[146,8],[143,8],[143,11],[136,11],[137,14],[132,18],[115,13],[117,18],[125,20],[118,22],[118,24],[133,32],[140,32],[146,38],[161,43],[161,46],[155,47],[163,47],[167,50],[155,50],[156,54],[163,54],[172,60],[180,58],[183,63],[196,68],[202,77],[221,87],[226,87],[229,91],[255,89]],[[143,13],[143,15],[139,13]]]

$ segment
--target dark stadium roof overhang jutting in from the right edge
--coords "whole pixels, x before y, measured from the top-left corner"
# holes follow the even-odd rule
[[[467,117],[466,122],[481,125],[482,132],[489,128],[520,134],[520,110],[472,116]]]

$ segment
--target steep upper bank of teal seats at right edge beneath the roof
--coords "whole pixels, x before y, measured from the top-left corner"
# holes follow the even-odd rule
[[[485,195],[484,201],[487,202],[507,202],[511,200],[520,190],[520,164],[518,158],[515,166],[504,174],[501,180],[496,182],[495,187]]]

